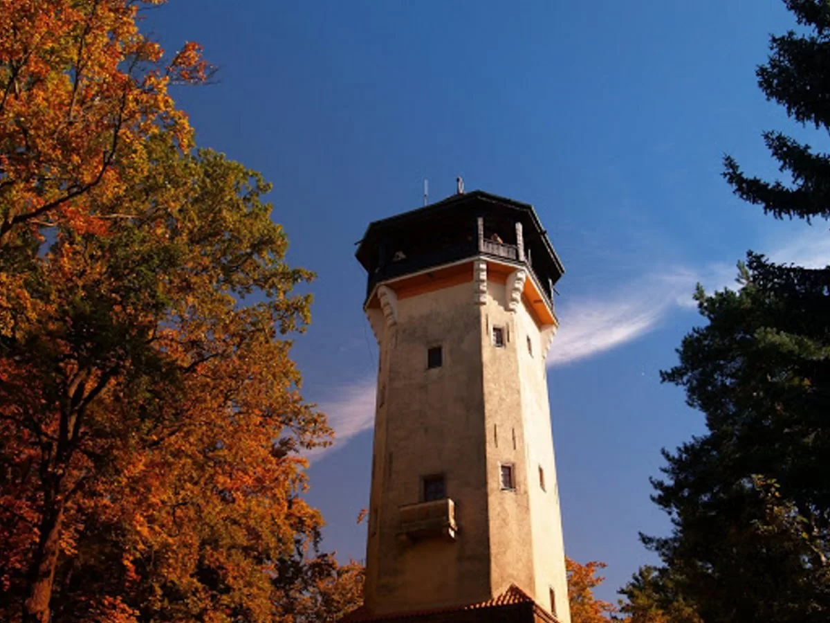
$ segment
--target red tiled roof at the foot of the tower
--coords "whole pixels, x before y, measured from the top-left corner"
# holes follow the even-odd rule
[[[467,606],[440,610],[375,615],[360,607],[340,620],[342,623],[559,623],[518,586],[500,596]]]

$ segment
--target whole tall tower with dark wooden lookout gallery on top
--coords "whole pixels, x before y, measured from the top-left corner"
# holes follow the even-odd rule
[[[564,267],[534,209],[457,194],[369,224],[356,255],[379,362],[349,620],[569,623],[544,365]]]

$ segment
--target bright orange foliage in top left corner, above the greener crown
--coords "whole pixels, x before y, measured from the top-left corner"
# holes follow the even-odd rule
[[[148,136],[192,146],[168,87],[211,67],[194,43],[164,65],[138,30],[142,3],[160,2],[0,0],[0,246],[19,227],[102,233],[149,164]]]

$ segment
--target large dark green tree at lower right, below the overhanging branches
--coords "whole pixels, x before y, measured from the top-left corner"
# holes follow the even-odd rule
[[[662,375],[708,433],[664,453],[674,530],[643,540],[706,623],[830,616],[828,287],[830,270],[750,253],[740,289],[698,292],[709,324]]]

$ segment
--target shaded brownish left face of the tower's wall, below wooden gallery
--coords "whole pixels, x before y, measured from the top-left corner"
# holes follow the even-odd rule
[[[398,300],[384,331],[366,591],[378,613],[491,596],[479,317],[466,282]],[[443,362],[427,370],[430,346],[442,346]],[[398,509],[419,502],[421,478],[433,473],[446,478],[460,533],[409,542]]]

